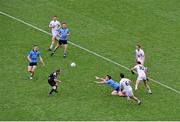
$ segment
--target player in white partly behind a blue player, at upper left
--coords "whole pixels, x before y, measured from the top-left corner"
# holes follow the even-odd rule
[[[49,27],[52,30],[52,42],[51,45],[49,47],[49,51],[52,50],[56,36],[58,34],[57,30],[61,27],[60,22],[57,20],[57,16],[53,16],[53,20],[50,22]]]

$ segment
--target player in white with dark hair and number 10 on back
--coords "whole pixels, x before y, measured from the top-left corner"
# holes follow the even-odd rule
[[[137,77],[136,84],[135,84],[135,90],[138,89],[140,82],[144,81],[144,85],[145,85],[146,89],[148,90],[148,93],[152,94],[150,86],[148,85],[148,82],[147,82],[146,68],[141,64],[141,62],[138,61],[137,65],[134,66],[133,68],[131,68],[131,72],[134,74],[133,70],[136,70],[138,73],[138,77]]]

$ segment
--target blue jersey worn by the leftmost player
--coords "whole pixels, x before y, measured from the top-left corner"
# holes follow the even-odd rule
[[[29,53],[29,58],[31,59],[31,63],[37,63],[38,62],[38,57],[40,56],[40,52],[31,50]]]

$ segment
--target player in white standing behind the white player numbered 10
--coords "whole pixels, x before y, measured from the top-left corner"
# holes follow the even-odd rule
[[[144,51],[141,49],[141,45],[136,45],[136,62],[141,62],[144,65],[145,62],[145,54]]]

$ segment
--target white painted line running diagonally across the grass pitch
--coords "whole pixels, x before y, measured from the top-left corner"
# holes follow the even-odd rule
[[[42,29],[40,29],[40,28],[38,28],[38,27],[36,27],[36,26],[34,26],[34,25],[32,25],[32,24],[29,24],[29,23],[27,23],[27,22],[25,22],[25,21],[23,21],[23,20],[21,20],[21,19],[18,19],[18,18],[14,17],[14,16],[11,16],[11,15],[9,15],[9,14],[7,14],[7,13],[4,13],[4,12],[0,11],[0,14],[2,14],[2,15],[4,15],[4,16],[7,16],[7,17],[9,17],[9,18],[11,18],[11,19],[14,19],[14,20],[16,20],[16,21],[18,21],[18,22],[21,22],[21,23],[23,23],[23,24],[25,24],[25,25],[27,25],[27,26],[30,26],[30,27],[32,27],[32,28],[34,28],[34,29],[36,29],[36,30],[39,30],[39,31],[41,31],[41,32],[43,32],[43,33],[45,33],[45,34],[51,35],[51,33],[47,32],[47,31],[45,31],[45,30],[42,30]],[[120,66],[120,67],[122,67],[122,68],[124,68],[124,69],[126,69],[126,70],[130,70],[128,67],[126,67],[126,66],[124,66],[124,65],[122,65],[122,64],[120,64],[120,63],[117,63],[117,62],[115,62],[115,61],[113,61],[113,60],[111,60],[111,59],[109,59],[109,58],[106,58],[106,57],[104,57],[104,56],[102,56],[102,55],[100,55],[100,54],[97,54],[96,52],[93,52],[93,51],[88,50],[88,49],[86,49],[86,48],[84,48],[84,47],[81,47],[80,45],[77,45],[77,44],[75,44],[75,43],[73,43],[73,42],[70,42],[70,41],[69,41],[69,43],[72,44],[72,45],[75,46],[75,47],[78,47],[78,48],[86,51],[86,52],[89,52],[89,53],[92,54],[92,55],[95,55],[95,56],[97,56],[97,57],[99,57],[99,58],[102,58],[102,59],[104,59],[104,60],[106,60],[106,61],[108,61],[108,62],[111,62],[111,63],[113,63],[113,64],[115,64],[115,65],[117,65],[117,66]],[[176,90],[176,89],[174,89],[174,88],[172,88],[172,87],[170,87],[170,86],[168,86],[168,85],[166,85],[166,84],[163,84],[163,83],[161,83],[161,82],[159,82],[159,81],[156,81],[156,80],[154,80],[154,79],[152,79],[152,78],[149,78],[149,80],[151,80],[151,81],[153,81],[154,83],[157,83],[157,84],[159,84],[159,85],[161,85],[161,86],[163,86],[163,87],[165,87],[165,88],[167,88],[167,89],[169,89],[169,90],[172,90],[172,91],[180,94],[180,91],[178,91],[178,90]]]

